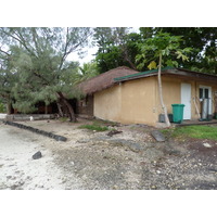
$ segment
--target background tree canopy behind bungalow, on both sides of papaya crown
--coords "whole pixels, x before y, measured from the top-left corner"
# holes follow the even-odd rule
[[[177,60],[179,67],[203,73],[217,74],[217,28],[216,27],[140,27],[139,33],[125,30],[120,36],[120,43],[115,43],[112,39],[111,28],[100,28],[101,34],[95,35],[99,50],[95,55],[100,72],[104,73],[111,68],[126,65],[135,69],[149,69],[148,65],[137,61],[136,56],[142,54],[140,44],[146,39],[153,38],[159,33],[168,33],[171,36],[182,36],[180,49],[191,48],[189,62]],[[106,31],[104,34],[103,31]],[[102,36],[101,36],[102,35]],[[150,53],[151,55],[151,53]]]

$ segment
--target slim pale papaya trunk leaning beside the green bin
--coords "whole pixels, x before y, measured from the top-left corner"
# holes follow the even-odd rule
[[[162,90],[162,54],[159,54],[159,65],[158,65],[158,92],[159,92],[159,101],[161,101],[161,105],[162,105],[162,108],[163,108],[163,112],[164,112],[164,117],[165,117],[165,123],[166,123],[166,126],[167,127],[170,127],[170,122],[169,122],[169,118],[168,118],[168,114],[167,114],[167,108],[164,104],[164,99],[163,99],[163,90]]]

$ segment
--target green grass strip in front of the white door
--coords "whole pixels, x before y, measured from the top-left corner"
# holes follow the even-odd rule
[[[217,127],[213,126],[186,126],[174,129],[164,129],[162,132],[166,137],[176,139],[195,138],[195,139],[210,139],[217,140]]]

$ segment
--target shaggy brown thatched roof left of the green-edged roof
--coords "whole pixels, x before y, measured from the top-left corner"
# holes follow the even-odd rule
[[[123,77],[139,73],[126,66],[120,66],[106,73],[100,74],[93,78],[90,78],[79,85],[81,91],[86,94],[92,94],[94,92],[104,90],[115,85],[114,78]]]

